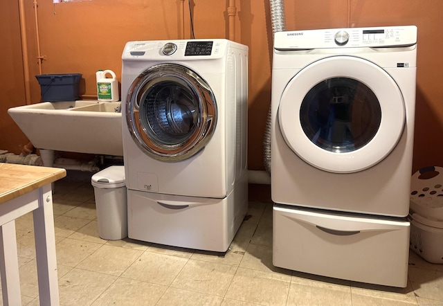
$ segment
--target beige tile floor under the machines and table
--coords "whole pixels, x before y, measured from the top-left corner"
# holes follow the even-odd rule
[[[256,192],[226,254],[102,240],[89,182],[68,176],[54,187],[61,305],[443,305],[443,265],[415,253],[405,289],[273,267],[272,204]],[[16,228],[22,303],[38,305],[31,215]]]

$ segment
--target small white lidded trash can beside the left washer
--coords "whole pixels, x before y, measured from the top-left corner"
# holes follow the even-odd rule
[[[96,197],[98,235],[106,240],[127,237],[125,166],[111,165],[91,178]]]

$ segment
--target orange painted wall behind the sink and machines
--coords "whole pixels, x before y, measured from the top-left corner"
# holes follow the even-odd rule
[[[82,73],[83,98],[96,95],[95,73],[111,69],[120,80],[121,53],[131,40],[190,38],[188,1],[91,0],[38,2],[43,73]],[[0,149],[17,152],[26,137],[8,115],[24,105],[17,3],[0,12]],[[31,100],[39,102],[33,3],[25,0]],[[269,0],[236,0],[235,40],[249,46],[248,163],[263,170],[262,138],[271,100],[272,28]],[[192,0],[196,38],[228,38],[228,0]],[[184,10],[183,10],[184,8]],[[417,114],[414,170],[443,165],[443,1],[285,1],[287,30],[394,26],[418,27]],[[8,13],[6,13],[8,12]],[[4,15],[4,16],[3,16]],[[6,19],[6,21],[5,21]],[[6,133],[3,133],[6,131]]]

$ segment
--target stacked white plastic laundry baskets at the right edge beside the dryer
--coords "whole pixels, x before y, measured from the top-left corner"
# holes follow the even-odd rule
[[[443,168],[426,167],[410,183],[410,249],[443,264]]]

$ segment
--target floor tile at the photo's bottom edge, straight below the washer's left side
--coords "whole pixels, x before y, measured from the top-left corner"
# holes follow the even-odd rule
[[[149,306],[159,305],[157,302],[168,287],[118,278],[109,288],[95,300],[91,306],[120,305],[120,306]],[[174,305],[174,304],[169,304]]]

